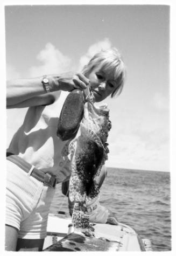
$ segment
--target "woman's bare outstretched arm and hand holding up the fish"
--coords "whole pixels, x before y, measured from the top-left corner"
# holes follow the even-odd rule
[[[51,104],[50,93],[46,92],[45,86],[41,82],[42,78],[7,81],[6,107],[18,108]],[[75,88],[85,89],[89,84],[89,80],[81,73],[69,72],[61,75],[47,75],[47,78],[50,92],[59,90],[71,92]]]

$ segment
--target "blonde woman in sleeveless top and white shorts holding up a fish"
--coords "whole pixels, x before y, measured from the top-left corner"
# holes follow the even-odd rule
[[[10,86],[13,93],[8,93],[8,106],[30,108],[8,148],[11,156],[7,161],[6,250],[43,248],[55,183],[70,176],[69,159],[64,154],[69,141],[61,141],[56,135],[68,91],[84,89],[90,82],[94,101],[100,102],[121,93],[124,75],[120,54],[116,49],[108,49],[95,54],[82,74],[73,79],[46,76],[34,80],[36,87],[33,79],[25,80],[24,87],[23,81]],[[40,81],[44,88],[38,86]],[[24,88],[22,96],[19,97],[20,90],[15,91],[16,87]]]

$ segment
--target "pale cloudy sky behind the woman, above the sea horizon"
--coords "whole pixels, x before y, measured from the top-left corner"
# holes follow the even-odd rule
[[[121,95],[102,102],[112,122],[106,165],[170,171],[170,6],[5,6],[7,79],[80,71],[111,46],[126,80]],[[26,108],[6,113],[8,147]]]

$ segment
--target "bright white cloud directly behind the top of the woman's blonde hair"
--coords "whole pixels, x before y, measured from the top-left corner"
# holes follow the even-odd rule
[[[110,47],[111,42],[108,38],[104,38],[102,41],[98,41],[97,43],[90,45],[87,53],[80,58],[78,70],[81,71],[83,66],[85,66],[88,63],[88,61],[91,59],[91,57],[94,56],[96,52],[102,49],[108,49]]]

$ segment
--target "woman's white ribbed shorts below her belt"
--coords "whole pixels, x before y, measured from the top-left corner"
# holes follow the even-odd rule
[[[5,224],[19,230],[18,238],[43,239],[55,189],[28,176],[9,160],[6,162]]]

